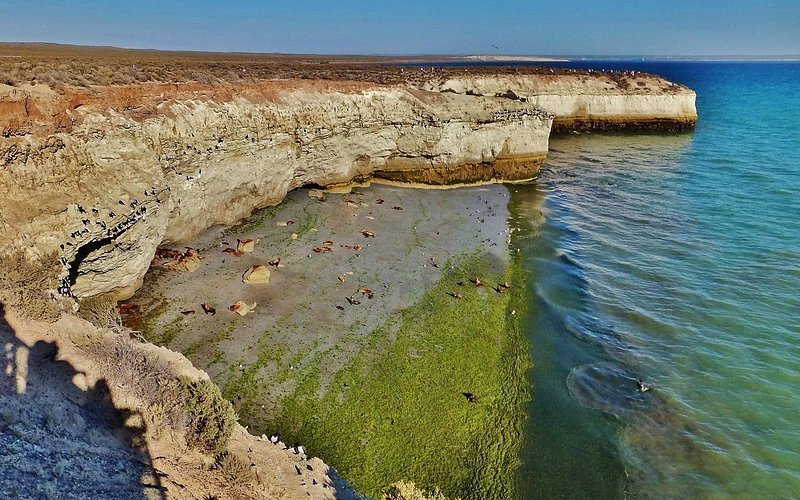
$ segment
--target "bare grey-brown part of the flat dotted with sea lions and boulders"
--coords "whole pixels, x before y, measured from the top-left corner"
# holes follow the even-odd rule
[[[503,186],[373,185],[349,194],[326,192],[324,201],[309,194],[295,191],[239,227],[214,228],[189,243],[203,256],[194,273],[167,269],[163,264],[169,261],[156,265],[128,301],[141,314],[127,315],[127,324],[142,329],[148,340],[186,354],[221,387],[257,364],[262,382],[247,404],[270,412],[321,354],[326,362],[314,368],[321,370],[324,392],[337,370],[361,350],[362,339],[417,302],[459,257],[488,251],[498,270],[506,261],[508,192]],[[365,237],[362,230],[375,236]],[[225,253],[239,238],[256,239],[255,251],[239,257]],[[315,253],[326,241],[333,242],[331,251]],[[269,266],[269,284],[242,282],[250,266],[278,258],[277,267]],[[373,298],[361,289],[371,290]],[[229,312],[238,300],[256,302],[255,312],[245,317]],[[204,313],[203,303],[216,314]],[[226,395],[235,406],[241,400],[241,394]]]

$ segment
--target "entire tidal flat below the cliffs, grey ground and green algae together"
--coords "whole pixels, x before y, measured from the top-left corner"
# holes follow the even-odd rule
[[[499,185],[297,190],[174,245],[200,267],[154,261],[124,319],[206,370],[251,433],[304,444],[364,494],[404,480],[512,496],[529,349],[508,200]],[[258,264],[269,283],[243,283]],[[254,312],[228,310],[240,300]]]

